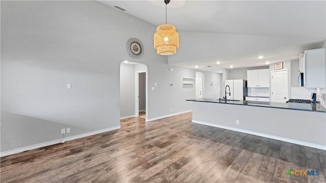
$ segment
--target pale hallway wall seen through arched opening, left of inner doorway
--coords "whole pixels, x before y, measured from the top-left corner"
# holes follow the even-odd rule
[[[135,115],[135,65],[120,67],[120,117]]]

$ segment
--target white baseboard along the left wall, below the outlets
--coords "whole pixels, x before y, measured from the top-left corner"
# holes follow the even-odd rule
[[[102,130],[97,130],[97,131],[93,131],[93,132],[89,132],[89,133],[84,133],[84,134],[80,134],[80,135],[74,135],[74,136],[71,136],[71,137],[66,137],[65,140],[66,141],[75,140],[75,139],[78,139],[78,138],[83,138],[83,137],[96,135],[96,134],[100,134],[100,133],[104,133],[104,132],[118,130],[120,128],[121,127],[119,125],[119,126],[116,126],[116,127],[111,127],[111,128],[107,128],[107,129],[102,129]],[[45,147],[45,146],[49,146],[49,145],[54,145],[54,144],[58,144],[58,143],[62,143],[62,139],[52,140],[52,141],[48,141],[48,142],[43,142],[43,143],[39,143],[39,144],[34,144],[34,145],[26,146],[26,147],[21,147],[21,148],[16,148],[16,149],[13,149],[13,150],[4,151],[4,152],[0,153],[0,157],[14,155],[14,154],[17,154],[17,153],[22,153],[23,151],[33,150],[33,149],[37,149],[37,148],[41,148],[41,147]]]

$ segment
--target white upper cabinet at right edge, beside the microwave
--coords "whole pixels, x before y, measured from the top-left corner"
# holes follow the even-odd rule
[[[325,48],[306,50],[304,60],[306,71],[305,87],[325,88],[326,87],[326,58]]]

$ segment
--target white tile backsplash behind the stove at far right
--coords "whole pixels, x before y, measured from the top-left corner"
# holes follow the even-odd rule
[[[326,108],[326,88],[291,87],[291,99],[311,100],[311,93],[316,93],[317,101]]]

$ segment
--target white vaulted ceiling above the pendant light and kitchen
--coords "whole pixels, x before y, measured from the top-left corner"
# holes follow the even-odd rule
[[[162,0],[100,2],[155,26],[165,24]],[[326,39],[326,1],[172,0],[167,23],[180,35],[180,47],[168,57],[169,64],[221,72],[231,65],[297,59],[304,50],[320,48]],[[265,57],[257,58],[260,55]]]

